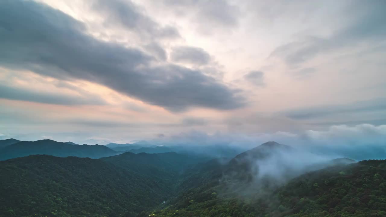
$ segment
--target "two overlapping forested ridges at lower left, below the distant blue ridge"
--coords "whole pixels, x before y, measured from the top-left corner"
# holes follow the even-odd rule
[[[126,152],[100,159],[31,155],[0,161],[0,216],[134,217],[174,197],[184,171],[205,160]]]

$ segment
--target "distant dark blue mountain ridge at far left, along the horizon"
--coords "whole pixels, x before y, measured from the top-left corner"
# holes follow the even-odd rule
[[[22,141],[11,144],[2,149],[0,160],[29,156],[32,154],[49,154],[58,157],[77,156],[101,158],[117,154],[116,151],[100,145],[72,145],[56,142],[50,139],[34,142]]]

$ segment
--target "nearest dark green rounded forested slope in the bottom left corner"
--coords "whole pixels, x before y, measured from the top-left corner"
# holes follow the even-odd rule
[[[154,182],[100,159],[0,161],[0,216],[135,216],[167,198]]]

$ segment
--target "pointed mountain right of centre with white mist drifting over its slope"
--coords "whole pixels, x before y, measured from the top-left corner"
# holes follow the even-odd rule
[[[266,142],[232,159],[215,159],[187,171],[179,186],[180,194],[169,205],[174,204],[171,209],[177,210],[189,207],[192,200],[206,201],[217,196],[221,198],[219,201],[225,200],[224,206],[235,199],[258,202],[261,198],[270,197],[271,192],[291,178],[308,171],[348,163],[352,163],[352,160],[329,160],[290,146]],[[211,207],[213,204],[201,205]],[[190,213],[192,216],[195,214]]]

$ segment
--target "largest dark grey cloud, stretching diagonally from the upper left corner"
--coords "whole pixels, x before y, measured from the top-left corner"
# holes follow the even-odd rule
[[[133,48],[99,41],[59,10],[30,1],[0,3],[0,65],[63,80],[82,79],[171,111],[233,109],[244,98],[201,71],[155,59]]]

